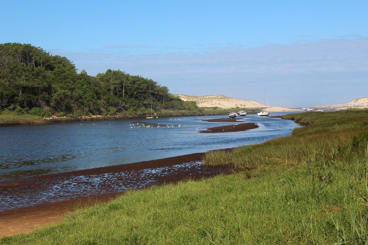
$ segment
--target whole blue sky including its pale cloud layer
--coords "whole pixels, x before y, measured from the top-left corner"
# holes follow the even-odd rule
[[[173,94],[311,107],[368,97],[368,1],[0,0],[0,43]]]

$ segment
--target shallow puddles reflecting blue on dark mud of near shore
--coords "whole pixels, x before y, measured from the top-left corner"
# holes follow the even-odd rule
[[[176,164],[170,167],[146,168],[138,171],[122,171],[92,175],[47,178],[16,188],[0,188],[0,212],[45,202],[56,202],[106,193],[123,192],[127,189],[147,187],[158,176],[197,170],[207,171],[201,162]]]

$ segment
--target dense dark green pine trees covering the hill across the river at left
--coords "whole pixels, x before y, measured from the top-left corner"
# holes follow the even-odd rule
[[[145,115],[152,109],[200,112],[152,79],[107,70],[79,74],[66,57],[30,44],[0,44],[0,112],[38,116]]]

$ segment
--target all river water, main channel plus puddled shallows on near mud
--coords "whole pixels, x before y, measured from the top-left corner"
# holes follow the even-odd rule
[[[280,115],[280,113],[274,113]],[[259,128],[243,132],[201,134],[199,130],[238,123],[201,120],[214,117],[176,117],[96,121],[0,128],[1,182],[118,164],[137,163],[215,149],[260,143],[291,134],[300,127],[290,120],[247,115],[243,122]],[[222,117],[223,118],[223,117]],[[169,167],[118,173],[49,175],[15,188],[0,189],[0,212],[152,185],[169,174],[206,173],[200,161]]]

